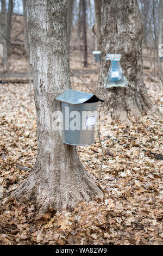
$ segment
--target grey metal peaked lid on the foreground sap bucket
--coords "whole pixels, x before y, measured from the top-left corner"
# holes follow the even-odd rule
[[[78,90],[72,89],[66,90],[66,92],[58,95],[55,99],[71,105],[98,101],[104,102],[104,100],[99,99],[95,94],[79,92]]]

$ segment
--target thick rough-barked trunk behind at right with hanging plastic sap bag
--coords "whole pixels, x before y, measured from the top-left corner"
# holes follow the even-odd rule
[[[101,70],[98,90],[103,90],[109,70],[106,53],[120,53],[121,66],[128,87],[105,89],[108,102],[114,102],[112,118],[130,125],[129,114],[138,119],[141,115],[159,113],[149,99],[142,77],[143,25],[136,0],[102,0]]]

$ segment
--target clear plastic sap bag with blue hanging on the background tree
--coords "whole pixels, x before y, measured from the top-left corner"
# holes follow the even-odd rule
[[[111,60],[108,76],[104,81],[104,87],[127,87],[127,78],[123,75],[120,60],[121,54],[106,54],[106,60]]]

